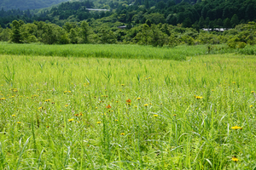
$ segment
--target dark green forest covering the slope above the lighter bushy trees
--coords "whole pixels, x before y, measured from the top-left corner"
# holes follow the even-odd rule
[[[107,12],[92,12],[86,8],[106,8]],[[167,23],[172,26],[183,24],[183,27],[234,28],[238,24],[256,19],[256,0],[206,0],[206,1],[178,1],[178,0],[136,0],[102,1],[92,3],[88,0],[67,2],[41,10],[38,14],[31,14],[30,10],[11,9],[0,11],[0,24],[4,28],[13,20],[24,20],[32,23],[34,20],[48,20],[59,26],[66,21],[79,22],[81,20],[97,20],[105,18],[104,22],[120,22],[123,25],[143,24],[151,20],[154,24]]]

